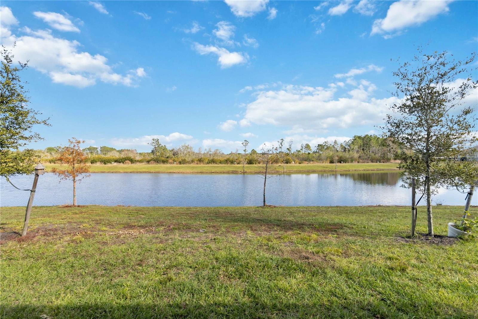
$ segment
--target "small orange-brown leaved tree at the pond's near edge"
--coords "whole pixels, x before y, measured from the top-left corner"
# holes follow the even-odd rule
[[[73,205],[76,206],[76,182],[81,182],[89,175],[83,175],[89,171],[89,165],[85,163],[87,156],[81,151],[80,145],[85,141],[77,140],[75,137],[68,139],[68,146],[62,148],[58,160],[62,165],[68,166],[67,169],[61,170],[53,168],[52,171],[60,176],[61,181],[73,181]]]

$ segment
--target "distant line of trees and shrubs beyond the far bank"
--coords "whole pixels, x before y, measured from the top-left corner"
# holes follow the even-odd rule
[[[88,156],[87,162],[91,164],[259,164],[260,154],[255,149],[242,152],[224,154],[220,149],[211,148],[195,150],[192,146],[184,144],[178,148],[167,148],[153,140],[150,152],[137,152],[136,149],[116,149],[108,146],[90,146],[83,148]],[[399,151],[393,147],[388,138],[376,135],[354,136],[345,143],[324,142],[315,146],[301,145],[301,148],[292,151],[292,140],[288,146],[281,139],[278,147],[272,150],[272,163],[301,164],[301,163],[368,163],[390,162],[399,159]],[[48,147],[37,150],[43,160],[56,163],[61,147]]]

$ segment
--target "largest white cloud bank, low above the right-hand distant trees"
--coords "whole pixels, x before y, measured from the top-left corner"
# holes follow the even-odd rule
[[[289,126],[295,130],[326,131],[380,123],[395,97],[372,97],[375,86],[361,83],[336,97],[336,87],[284,85],[276,91],[256,91],[241,121],[257,125]]]

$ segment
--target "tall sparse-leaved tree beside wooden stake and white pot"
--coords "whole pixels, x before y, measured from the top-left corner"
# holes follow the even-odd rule
[[[411,150],[402,153],[400,168],[407,173],[405,187],[410,187],[412,177],[417,189],[424,187],[428,234],[433,237],[434,189],[459,177],[458,163],[447,159],[456,158],[478,141],[473,134],[477,121],[473,107],[464,105],[470,91],[477,88],[477,82],[465,75],[476,55],[456,61],[449,60],[452,55],[446,51],[431,55],[421,48],[418,51],[412,62],[393,72],[398,78],[395,96],[401,100],[391,105],[393,114],[387,115],[383,129],[396,144]]]

